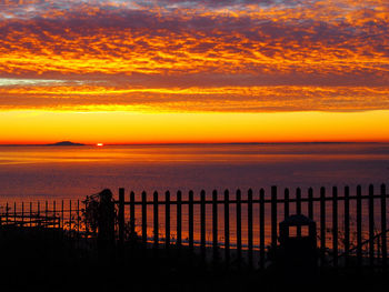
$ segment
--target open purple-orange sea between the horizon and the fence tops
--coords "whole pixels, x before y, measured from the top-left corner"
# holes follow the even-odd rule
[[[0,200],[389,182],[389,143],[0,147]]]

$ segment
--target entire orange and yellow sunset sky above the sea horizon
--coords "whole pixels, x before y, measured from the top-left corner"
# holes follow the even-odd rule
[[[389,141],[387,0],[0,0],[0,143]]]

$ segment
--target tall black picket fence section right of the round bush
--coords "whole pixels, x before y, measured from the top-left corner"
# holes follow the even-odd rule
[[[271,260],[269,254],[278,248],[279,222],[291,214],[305,214],[318,225],[321,266],[387,268],[389,194],[385,184],[378,193],[373,185],[366,193],[358,185],[353,194],[349,187],[342,190],[333,187],[330,194],[321,188],[317,195],[312,188],[306,195],[297,188],[293,198],[290,189],[280,194],[277,187],[269,194],[261,189],[246,194],[240,190],[235,193],[226,190],[221,194],[201,191],[196,197],[189,191],[187,199],[182,199],[181,191],[176,198],[169,191],[162,195],[153,192],[152,197],[130,192],[129,201],[124,197],[124,189],[120,189],[116,201],[119,241],[124,240],[120,226],[127,221],[130,233],[139,233],[144,245],[198,248],[202,258],[215,261],[222,258],[226,262],[231,261],[233,251],[238,262],[245,253],[249,265],[265,268]],[[296,235],[301,235],[300,230],[297,232]]]

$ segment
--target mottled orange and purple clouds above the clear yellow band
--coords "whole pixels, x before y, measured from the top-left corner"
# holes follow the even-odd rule
[[[385,1],[53,3],[2,6],[0,78],[42,80],[3,110],[388,109]]]

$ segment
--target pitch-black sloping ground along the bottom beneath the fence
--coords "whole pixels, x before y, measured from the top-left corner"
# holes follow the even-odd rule
[[[238,269],[206,263],[180,251],[143,249],[137,241],[120,250],[88,251],[60,230],[1,226],[2,291],[387,291],[388,274],[353,269],[317,274]]]

